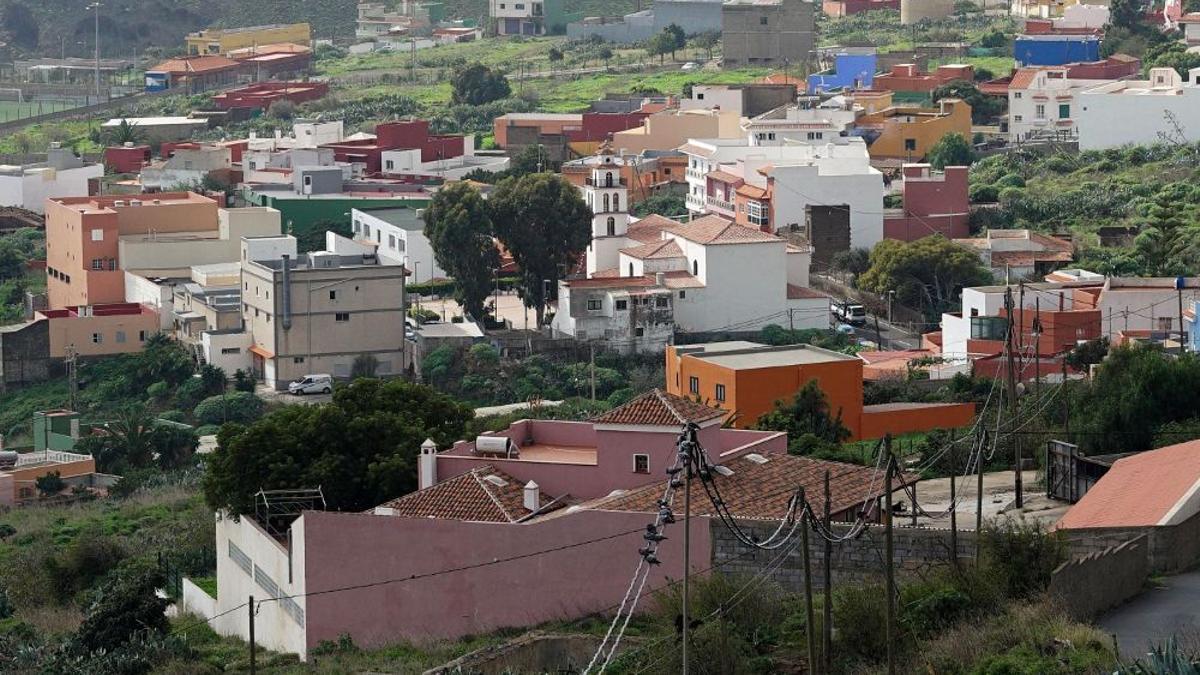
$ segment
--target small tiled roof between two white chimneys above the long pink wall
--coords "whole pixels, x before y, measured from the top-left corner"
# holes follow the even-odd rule
[[[502,484],[503,483],[503,484]],[[542,507],[553,500],[540,495]],[[478,522],[516,522],[532,512],[524,508],[524,484],[491,465],[484,465],[384,504],[392,515]]]

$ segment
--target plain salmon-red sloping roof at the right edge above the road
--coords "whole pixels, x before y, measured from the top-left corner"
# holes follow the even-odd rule
[[[1200,441],[1120,459],[1056,530],[1176,525],[1200,512]]]

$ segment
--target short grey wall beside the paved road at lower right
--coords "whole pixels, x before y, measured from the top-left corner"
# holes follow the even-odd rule
[[[1150,574],[1146,536],[1069,560],[1050,577],[1050,595],[1086,621],[1142,591]]]

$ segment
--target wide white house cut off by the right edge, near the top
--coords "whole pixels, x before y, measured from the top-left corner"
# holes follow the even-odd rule
[[[1151,68],[1150,79],[1110,82],[1078,100],[1080,150],[1200,141],[1200,68],[1187,78],[1175,68]]]

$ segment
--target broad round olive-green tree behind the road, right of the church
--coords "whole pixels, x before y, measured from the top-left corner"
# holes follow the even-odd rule
[[[949,310],[962,288],[991,282],[979,256],[937,234],[916,241],[884,239],[871,250],[871,267],[858,287],[878,294],[896,292],[901,303],[936,318]]]

